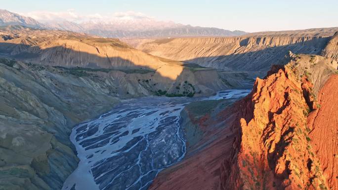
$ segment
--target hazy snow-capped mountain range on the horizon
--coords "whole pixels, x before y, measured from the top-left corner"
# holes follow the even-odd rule
[[[68,20],[37,21],[0,9],[0,26],[20,25],[38,29],[67,30],[108,38],[161,38],[194,36],[240,36],[243,31],[218,28],[194,27],[153,18],[109,18],[94,19],[80,23]]]

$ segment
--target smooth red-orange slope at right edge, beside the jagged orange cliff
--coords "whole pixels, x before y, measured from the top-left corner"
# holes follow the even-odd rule
[[[338,75],[318,93],[320,108],[308,116],[309,137],[330,190],[338,190]]]

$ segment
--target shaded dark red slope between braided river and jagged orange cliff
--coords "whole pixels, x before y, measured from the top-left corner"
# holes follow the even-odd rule
[[[242,102],[216,115],[198,118],[185,108],[182,116],[191,122],[189,125],[197,127],[195,131],[189,130],[198,140],[194,144],[188,140],[186,158],[161,172],[149,190],[220,190],[220,165],[230,155],[236,134],[231,125],[239,119],[241,110],[245,110]]]

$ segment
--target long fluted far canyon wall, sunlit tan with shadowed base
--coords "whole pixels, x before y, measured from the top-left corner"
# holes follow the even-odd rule
[[[331,39],[335,38],[332,35],[333,32],[295,32],[224,38],[170,38],[145,42],[136,48],[152,55],[205,67],[226,71],[254,71],[255,75],[262,72],[264,74],[258,73],[258,76],[263,77],[271,65],[287,63],[284,57],[289,50],[321,55],[330,40],[332,44],[335,43]],[[335,53],[330,53],[330,57],[335,58],[334,55]]]

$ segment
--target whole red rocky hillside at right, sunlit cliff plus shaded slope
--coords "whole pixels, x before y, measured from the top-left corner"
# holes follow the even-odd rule
[[[213,138],[200,138],[205,144],[196,143],[190,156],[160,174],[151,189],[174,190],[180,185],[187,190],[333,188],[337,183],[333,180],[335,148],[318,150],[336,146],[335,132],[324,140],[323,130],[332,133],[337,125],[333,122],[319,127],[327,118],[324,116],[315,121],[319,132],[311,131],[307,115],[321,111],[316,94],[320,88],[334,85],[328,78],[337,71],[337,63],[321,56],[292,53],[289,59],[286,66],[275,66],[264,79],[257,78],[252,93],[219,111],[218,117],[200,117],[195,134],[203,137],[208,134],[205,130],[212,128],[216,131]],[[332,105],[325,107],[334,109]],[[324,156],[327,154],[331,157]],[[204,179],[207,182],[202,183]]]

